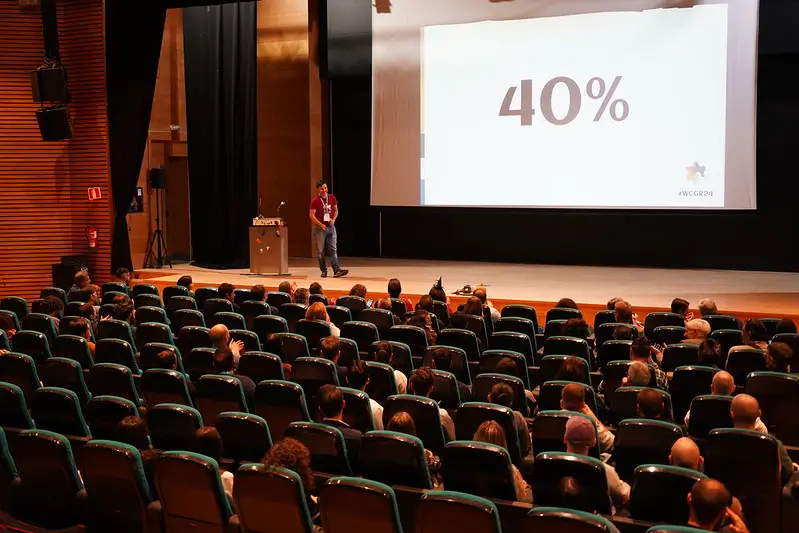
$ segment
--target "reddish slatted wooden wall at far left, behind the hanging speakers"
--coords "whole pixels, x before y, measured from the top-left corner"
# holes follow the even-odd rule
[[[107,280],[111,268],[103,3],[57,5],[75,135],[44,142],[28,74],[44,58],[40,11],[0,3],[0,296],[37,298],[53,263],[88,252],[90,224],[99,232],[89,253],[93,279]],[[100,187],[102,199],[89,202],[89,187]]]

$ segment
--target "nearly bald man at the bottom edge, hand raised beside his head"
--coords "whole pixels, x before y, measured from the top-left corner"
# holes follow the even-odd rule
[[[688,494],[688,525],[707,531],[719,531],[719,524],[725,516],[730,525],[722,531],[749,533],[741,517],[732,509],[734,505],[730,491],[715,479],[700,479]]]

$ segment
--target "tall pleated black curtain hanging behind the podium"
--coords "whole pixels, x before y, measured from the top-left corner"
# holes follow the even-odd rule
[[[249,264],[257,211],[256,2],[183,9],[194,264]]]

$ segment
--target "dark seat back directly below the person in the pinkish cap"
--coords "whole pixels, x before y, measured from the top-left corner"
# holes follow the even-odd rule
[[[535,457],[533,501],[536,505],[558,505],[560,481],[573,477],[583,488],[590,510],[611,514],[605,467],[599,459],[565,452],[545,452]]]

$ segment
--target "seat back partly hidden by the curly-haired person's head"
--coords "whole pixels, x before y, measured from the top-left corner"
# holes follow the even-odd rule
[[[325,474],[351,476],[352,467],[341,430],[316,422],[292,422],[285,436],[300,441],[311,453],[311,470]]]

